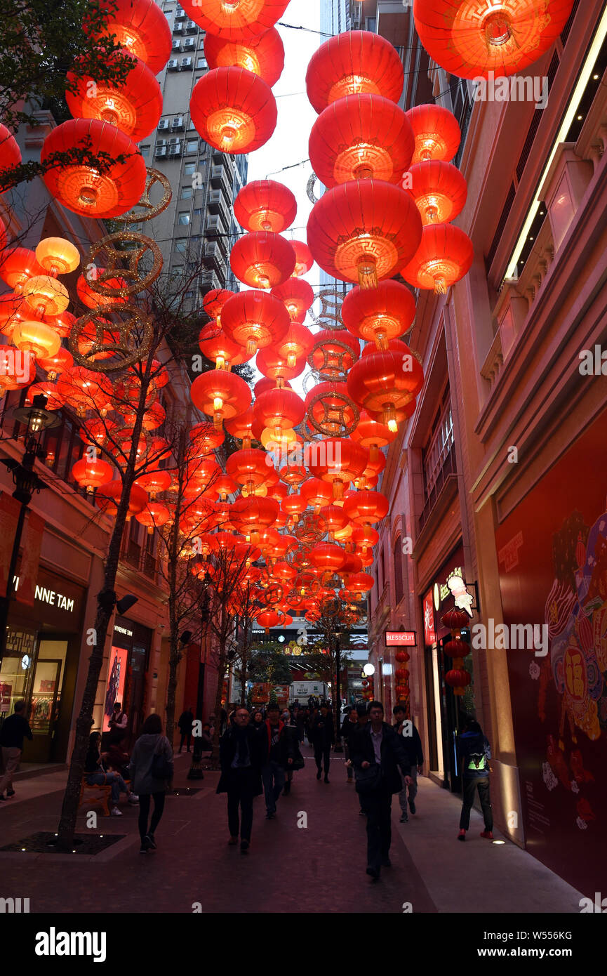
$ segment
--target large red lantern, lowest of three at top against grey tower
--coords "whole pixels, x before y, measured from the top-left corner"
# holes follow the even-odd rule
[[[253,152],[276,128],[276,100],[257,74],[218,67],[203,75],[189,102],[200,136],[221,152]]]

